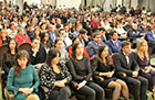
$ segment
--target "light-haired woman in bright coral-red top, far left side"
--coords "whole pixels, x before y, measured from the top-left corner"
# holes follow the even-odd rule
[[[27,33],[24,32],[24,29],[19,29],[18,34],[14,36],[14,38],[17,40],[18,45],[24,42],[31,43],[29,36],[27,36]]]

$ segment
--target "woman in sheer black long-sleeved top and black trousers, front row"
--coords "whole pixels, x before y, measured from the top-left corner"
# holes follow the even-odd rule
[[[72,58],[69,60],[69,68],[73,80],[78,82],[75,92],[86,96],[86,100],[103,100],[104,90],[92,81],[92,68],[90,59],[83,56],[83,46],[81,43],[74,43],[72,46]]]

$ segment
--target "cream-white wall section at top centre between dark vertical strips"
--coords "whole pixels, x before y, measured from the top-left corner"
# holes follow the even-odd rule
[[[56,1],[56,8],[76,8],[79,9],[79,5],[81,3],[81,0],[58,0]],[[65,7],[63,7],[65,5]]]

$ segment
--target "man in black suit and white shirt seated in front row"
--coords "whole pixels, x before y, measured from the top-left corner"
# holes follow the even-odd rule
[[[146,90],[148,81],[146,78],[138,76],[140,67],[131,53],[131,43],[122,42],[122,51],[114,57],[116,71],[123,71],[126,77],[123,80],[133,86],[134,100],[147,100]]]

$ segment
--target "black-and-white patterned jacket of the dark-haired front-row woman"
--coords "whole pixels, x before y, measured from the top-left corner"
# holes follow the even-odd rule
[[[60,68],[62,79],[66,79],[69,84],[72,79],[72,76],[69,73],[68,68],[64,64],[58,64],[58,66]],[[54,82],[56,81],[56,74],[54,73],[52,66],[48,66],[46,64],[43,65],[43,67],[40,70],[40,79],[41,85],[49,88],[49,92],[45,95],[45,99],[48,100],[51,91],[55,88]]]

